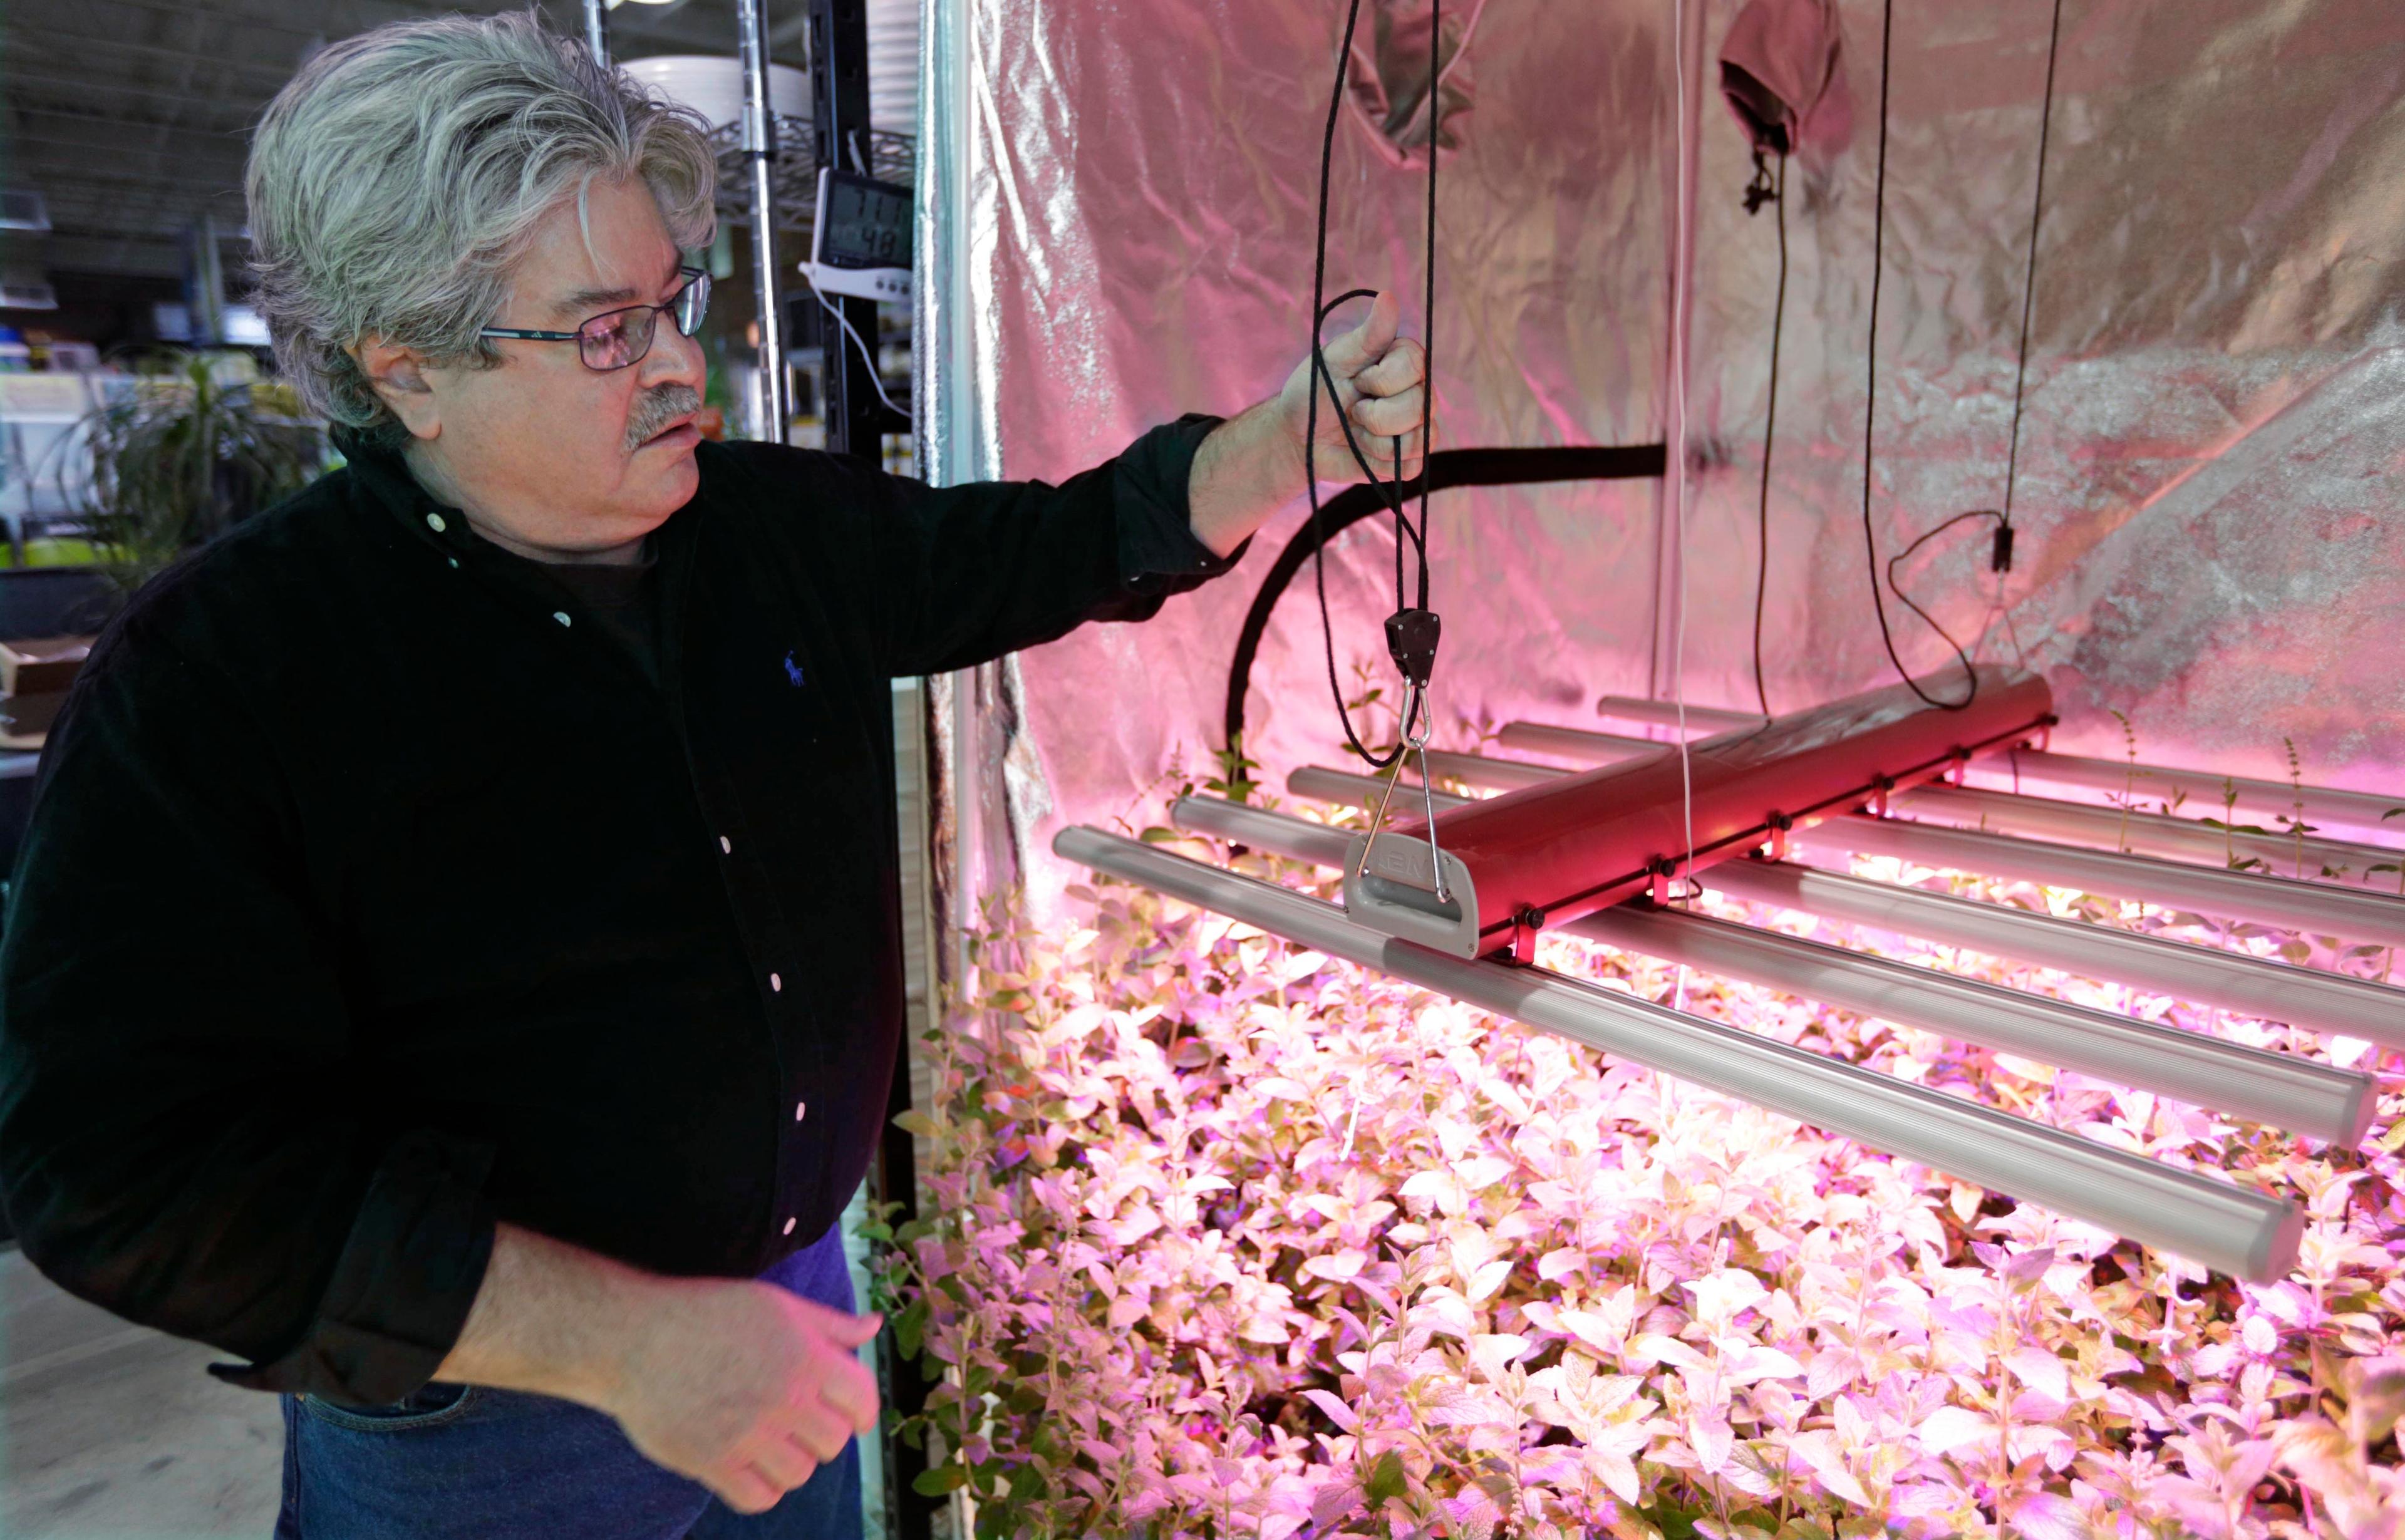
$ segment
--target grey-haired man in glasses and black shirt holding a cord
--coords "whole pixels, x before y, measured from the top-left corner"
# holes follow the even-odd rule
[[[320,53],[250,229],[349,467],[144,590],[43,758],[0,1191],[60,1285],[284,1393],[279,1535],[856,1509],[887,679],[1145,618],[1299,491],[1301,368],[1063,486],[697,443],[712,185],[529,17]],[[1328,354],[1417,428],[1392,301]]]

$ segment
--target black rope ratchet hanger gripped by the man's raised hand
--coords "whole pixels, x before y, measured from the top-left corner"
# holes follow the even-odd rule
[[[1474,19],[1474,17],[1472,17]],[[1426,236],[1424,236],[1424,272],[1426,291],[1421,301],[1424,325],[1429,337],[1421,342],[1421,383],[1419,383],[1419,522],[1412,522],[1405,508],[1407,481],[1402,476],[1402,438],[1390,438],[1390,455],[1395,460],[1395,476],[1383,479],[1378,469],[1368,462],[1361,450],[1361,440],[1354,438],[1352,416],[1344,411],[1344,392],[1337,390],[1335,373],[1328,368],[1328,354],[1320,346],[1320,330],[1328,325],[1328,315],[1340,306],[1356,298],[1376,298],[1376,289],[1347,289],[1335,298],[1323,298],[1328,294],[1328,183],[1335,161],[1337,140],[1337,116],[1344,108],[1344,77],[1352,65],[1354,31],[1361,22],[1361,0],[1352,0],[1344,10],[1344,38],[1337,43],[1337,72],[1335,87],[1328,91],[1328,128],[1320,135],[1320,207],[1318,226],[1313,238],[1311,257],[1311,373],[1313,390],[1308,392],[1308,404],[1304,411],[1304,484],[1311,493],[1311,529],[1316,537],[1311,551],[1311,573],[1318,587],[1320,604],[1320,642],[1328,657],[1328,693],[1337,705],[1337,722],[1344,724],[1344,744],[1361,756],[1373,770],[1392,770],[1385,777],[1385,789],[1378,796],[1378,808],[1371,813],[1368,840],[1361,845],[1361,871],[1368,873],[1368,854],[1378,845],[1378,830],[1385,825],[1385,808],[1395,796],[1395,782],[1402,777],[1405,753],[1419,753],[1419,794],[1426,808],[1429,823],[1429,866],[1436,873],[1436,902],[1453,902],[1453,893],[1445,888],[1445,854],[1436,842],[1436,784],[1429,775],[1429,734],[1436,724],[1436,710],[1429,705],[1429,676],[1436,671],[1436,642],[1443,635],[1443,623],[1436,611],[1429,609],[1429,452],[1433,443],[1431,409],[1436,402],[1436,149],[1441,128],[1441,99],[1438,87],[1443,84],[1443,0],[1429,2],[1429,205],[1426,205]],[[1465,34],[1467,41],[1467,34]],[[1378,500],[1388,505],[1395,515],[1395,614],[1385,618],[1385,652],[1395,659],[1395,669],[1402,674],[1402,707],[1395,724],[1395,748],[1385,756],[1376,753],[1354,732],[1352,710],[1344,705],[1344,686],[1337,681],[1337,645],[1335,626],[1328,618],[1328,563],[1323,556],[1325,541],[1320,534],[1320,476],[1318,476],[1318,438],[1320,438],[1320,387],[1328,390],[1328,407],[1335,411],[1337,426],[1344,431],[1344,448],[1352,452],[1354,464],[1361,467],[1361,476],[1376,488]],[[1417,599],[1405,582],[1405,546],[1412,549],[1419,565]]]

